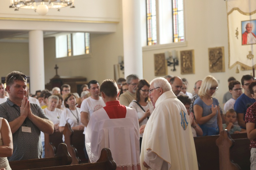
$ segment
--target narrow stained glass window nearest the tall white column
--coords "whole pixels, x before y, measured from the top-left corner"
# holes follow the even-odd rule
[[[157,44],[156,0],[146,0],[147,6],[147,45]]]

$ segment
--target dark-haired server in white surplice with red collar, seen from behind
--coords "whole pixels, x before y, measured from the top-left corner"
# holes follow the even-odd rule
[[[94,112],[85,130],[85,145],[91,163],[103,148],[110,148],[117,170],[140,170],[139,120],[135,109],[120,105],[113,80],[105,80],[100,92],[106,106]]]

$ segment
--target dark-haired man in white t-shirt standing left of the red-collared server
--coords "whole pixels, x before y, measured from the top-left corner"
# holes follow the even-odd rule
[[[90,97],[83,100],[80,112],[81,112],[81,122],[84,124],[84,134],[87,127],[87,124],[90,120],[91,115],[99,110],[100,108],[106,106],[102,98],[100,97],[100,85],[96,80],[91,80],[88,83],[89,92],[91,94]],[[87,156],[86,148],[84,146],[84,153]]]

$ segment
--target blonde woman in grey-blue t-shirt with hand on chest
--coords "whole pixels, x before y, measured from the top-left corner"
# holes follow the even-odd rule
[[[218,135],[223,129],[219,102],[212,97],[217,86],[218,82],[213,76],[205,77],[198,91],[199,98],[194,102],[195,117],[203,130],[203,136]]]

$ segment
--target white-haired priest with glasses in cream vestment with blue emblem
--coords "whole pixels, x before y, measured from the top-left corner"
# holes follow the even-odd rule
[[[141,146],[141,169],[198,170],[191,125],[185,106],[172,92],[170,83],[156,78],[150,83],[156,102]]]

